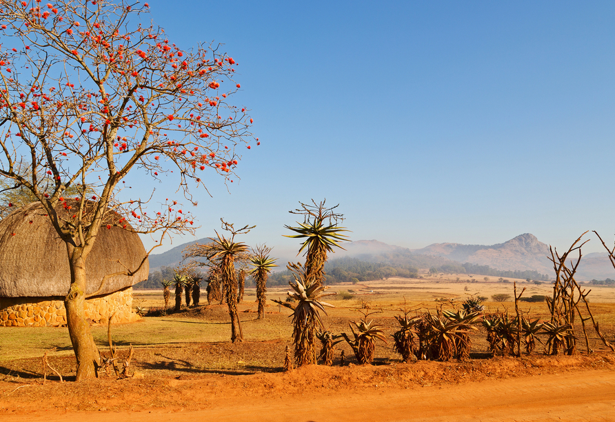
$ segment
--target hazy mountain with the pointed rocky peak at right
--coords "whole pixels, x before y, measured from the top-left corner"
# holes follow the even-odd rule
[[[437,255],[459,263],[489,265],[498,270],[534,270],[551,274],[549,246],[538,241],[534,234],[520,234],[514,239],[496,245],[461,245],[459,243],[434,243],[414,250],[415,254]]]

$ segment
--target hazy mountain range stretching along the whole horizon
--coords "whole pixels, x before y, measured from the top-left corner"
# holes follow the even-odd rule
[[[159,270],[163,265],[176,266],[182,259],[183,249],[192,243],[208,243],[209,238],[183,243],[163,252],[150,255],[150,272]],[[345,250],[336,250],[330,261],[350,257],[361,261],[397,263],[412,265],[416,268],[440,267],[445,264],[472,263],[489,265],[497,270],[537,271],[553,277],[553,264],[549,260],[549,246],[538,241],[533,234],[520,234],[514,239],[495,245],[464,245],[461,243],[433,243],[421,249],[402,248],[376,240],[360,240],[345,243]],[[285,261],[281,259],[281,261]],[[283,265],[281,265],[283,268]],[[603,280],[615,278],[608,255],[605,253],[587,254],[581,260],[577,279]]]

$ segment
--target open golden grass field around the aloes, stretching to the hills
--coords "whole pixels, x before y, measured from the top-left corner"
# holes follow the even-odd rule
[[[450,276],[447,279],[435,277],[422,280],[391,278],[357,285],[350,283],[333,285],[330,290],[339,294],[328,300],[335,305],[335,308],[327,310],[329,315],[324,318],[325,325],[335,333],[350,332],[348,323],[353,320],[358,321],[361,317],[361,310],[369,307],[370,310],[378,312],[372,316],[372,319],[383,326],[390,338],[390,334],[393,334],[397,325],[394,315],[399,314],[400,309],[404,306],[416,310],[416,312],[422,312],[425,310],[433,311],[438,306],[435,300],[441,298],[454,299],[452,305],[450,303],[444,305],[445,309],[459,305],[470,294],[490,298],[493,294],[505,293],[510,294],[512,298],[512,283],[498,283],[495,277],[491,278],[492,281],[481,280],[477,283],[456,282],[455,279],[456,276]],[[518,291],[526,288],[525,297],[532,294],[550,294],[552,291],[551,286],[546,283],[535,285],[534,283],[527,283],[525,280],[518,280],[517,282]],[[270,288],[268,297],[271,299],[283,298],[287,290],[284,287]],[[341,299],[342,297],[347,299]],[[592,301],[594,316],[600,322],[607,339],[614,341],[615,288],[594,288],[589,298]],[[236,350],[245,349],[238,352],[241,354],[239,358],[235,359],[236,356],[232,356],[232,353],[228,356],[222,353],[217,358],[212,356],[200,360],[194,358],[194,356],[189,356],[185,358],[185,361],[190,362],[190,365],[199,366],[199,368],[212,365],[210,369],[218,370],[237,370],[250,367],[275,370],[281,367],[285,346],[292,346],[292,325],[289,318],[291,311],[270,302],[266,308],[268,313],[265,319],[257,320],[255,300],[254,288],[247,288],[243,303],[239,306],[245,343],[243,346],[232,345],[231,347]],[[484,305],[485,312],[497,310],[514,312],[512,301],[494,302],[487,299]],[[549,316],[545,303],[521,302],[520,305],[523,311],[530,312],[532,316],[543,319]],[[162,291],[135,291],[134,306],[145,309],[162,307]],[[577,325],[577,328],[580,328],[580,324]],[[106,326],[93,326],[92,333],[99,348],[103,351],[107,350]],[[603,348],[594,331],[589,330],[589,334],[592,347],[596,350]],[[194,348],[194,345],[226,343],[230,339],[230,325],[225,305],[202,305],[198,308],[184,309],[178,314],[169,314],[168,316],[146,316],[143,321],[138,323],[112,325],[112,335],[114,342],[119,345],[120,349],[127,348],[130,344],[134,345],[139,351],[137,352],[137,359],[143,361],[150,352],[161,348],[174,350],[175,354],[183,355],[191,352],[182,353],[180,352],[182,348],[188,350]],[[472,352],[475,356],[486,354],[485,336],[482,328],[473,333]],[[390,343],[377,343],[376,363],[399,361],[399,355],[393,352]],[[247,347],[246,345],[251,346]],[[267,347],[271,349],[270,353],[266,353],[265,345],[269,345]],[[257,351],[261,347],[265,348],[262,353]],[[352,350],[347,344],[340,343],[337,347],[339,350],[345,350],[347,359],[351,359],[351,361],[354,359]],[[23,358],[40,358],[44,352],[52,348],[56,350],[50,356],[72,356],[72,345],[68,338],[67,328],[3,328],[0,336],[0,362],[3,363],[5,368],[8,368],[10,361]],[[538,349],[540,352],[540,346],[538,346]],[[252,357],[250,356],[251,350],[254,354]],[[583,350],[583,348],[580,348],[580,350]],[[67,374],[70,374],[68,368]]]

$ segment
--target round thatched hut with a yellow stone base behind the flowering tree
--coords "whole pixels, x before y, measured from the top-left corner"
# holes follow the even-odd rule
[[[65,215],[62,207],[59,211]],[[143,257],[138,234],[115,225],[101,228],[86,261],[86,318],[93,323],[107,323],[112,315],[112,323],[139,319],[132,311],[132,285],[148,278],[148,262],[132,277],[110,277],[102,285],[101,281],[106,274],[138,268]],[[40,202],[0,221],[0,326],[65,325],[63,301],[69,286],[66,245]]]

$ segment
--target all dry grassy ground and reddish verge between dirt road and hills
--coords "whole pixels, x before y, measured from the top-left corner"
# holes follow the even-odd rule
[[[550,289],[548,285],[527,284],[525,287],[530,293],[535,291],[537,294],[547,294]],[[173,400],[179,400],[185,408],[198,408],[198,396],[191,398],[190,394],[181,395],[181,388],[169,388],[169,385],[176,385],[174,382],[177,380],[189,380],[197,384],[210,383],[212,376],[231,376],[230,379],[225,379],[225,382],[228,381],[229,385],[235,387],[241,384],[241,389],[247,389],[245,391],[255,389],[254,394],[268,394],[270,390],[279,390],[279,392],[282,390],[281,386],[263,389],[261,384],[263,379],[275,385],[283,383],[282,380],[292,379],[294,384],[285,385],[283,388],[285,394],[290,394],[300,391],[302,386],[308,384],[327,389],[349,388],[352,385],[352,388],[360,390],[362,386],[379,382],[395,388],[412,388],[417,385],[548,374],[574,368],[615,368],[613,354],[593,332],[590,332],[589,341],[596,352],[589,356],[581,347],[576,356],[545,356],[543,345],[538,343],[536,350],[530,356],[524,353],[520,359],[501,357],[492,359],[487,343],[487,332],[480,324],[476,325],[478,330],[470,332],[469,359],[445,363],[416,361],[414,356],[410,356],[408,363],[402,363],[401,355],[394,350],[392,337],[399,329],[395,316],[403,314],[401,308],[405,306],[416,312],[425,309],[435,312],[439,307],[452,309],[460,301],[453,301],[451,305],[451,302],[438,303],[434,299],[463,298],[470,292],[487,296],[496,292],[510,291],[512,285],[481,281],[474,283],[470,292],[464,288],[464,283],[439,282],[439,280],[403,283],[402,280],[396,279],[374,281],[365,285],[332,286],[331,290],[349,293],[337,294],[330,300],[336,308],[331,309],[328,316],[323,316],[325,328],[333,334],[341,332],[350,334],[349,322],[359,321],[362,316],[361,310],[363,312],[366,308],[379,310],[381,312],[370,315],[370,319],[374,320],[375,325],[380,326],[388,343],[382,341],[374,343],[374,361],[373,365],[368,367],[358,366],[350,345],[346,342],[337,343],[332,351],[334,366],[330,370],[306,370],[309,375],[305,377],[283,372],[285,349],[287,346],[292,347],[292,311],[270,302],[265,308],[265,318],[258,319],[258,302],[254,288],[246,289],[245,299],[238,306],[245,335],[243,343],[231,343],[228,339],[229,321],[225,305],[201,305],[184,308],[181,312],[168,316],[146,316],[140,323],[112,327],[119,361],[128,356],[129,345],[132,343],[134,346],[130,369],[134,371],[135,376],[123,381],[115,381],[117,377],[114,375],[103,376],[98,381],[91,381],[86,387],[80,385],[79,388],[72,388],[70,383],[61,384],[59,376],[50,369],[46,370],[46,385],[42,385],[45,374],[42,366],[43,354],[52,348],[55,350],[49,352],[46,357],[49,365],[65,380],[74,379],[74,355],[68,336],[65,335],[65,328],[5,328],[0,338],[0,412],[16,410],[17,406],[26,410],[32,408],[32,403],[41,401],[45,403],[52,397],[57,397],[57,394],[63,397],[59,399],[61,405],[70,410],[162,408]],[[272,288],[269,294],[272,298],[283,297],[285,291],[281,288]],[[608,298],[613,297],[615,288],[598,288],[594,292],[596,298],[603,298],[600,303],[598,299],[592,301],[594,316],[600,322],[601,330],[607,340],[614,342],[615,301]],[[347,299],[341,299],[342,297]],[[164,304],[162,290],[136,292],[135,298],[135,305],[145,309]],[[484,305],[485,312],[509,310],[514,313],[513,302],[486,301]],[[520,303],[520,306],[532,318],[549,319],[550,312],[546,303]],[[410,312],[410,316],[413,312],[415,311]],[[93,327],[92,332],[99,348],[105,356],[108,356],[106,327]],[[15,344],[19,344],[20,347],[14,347]],[[345,355],[343,367],[340,366],[341,352]],[[305,375],[305,372],[302,373]],[[248,374],[250,374],[248,378],[235,377]],[[219,382],[219,379],[216,380]],[[21,388],[24,385],[28,387]],[[113,388],[109,391],[114,393],[103,394],[103,397],[106,397],[105,405],[101,404],[102,401],[88,402],[88,404],[76,399],[72,401],[70,396],[63,396],[62,393],[68,394],[68,390],[75,389],[70,394],[101,394],[100,389],[104,386],[108,390],[110,385],[113,385]],[[139,394],[128,394],[125,385],[130,385],[130,389],[134,392],[150,391],[151,396],[145,401],[134,399]],[[123,399],[114,401],[114,397],[123,397]],[[177,401],[174,405],[177,405]]]

